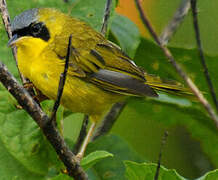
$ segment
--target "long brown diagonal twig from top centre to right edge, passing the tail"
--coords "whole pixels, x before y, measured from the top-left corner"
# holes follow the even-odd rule
[[[142,0],[135,0],[135,2],[136,2],[136,6],[138,8],[138,11],[140,13],[142,22],[147,27],[149,33],[154,38],[154,40],[159,45],[159,47],[162,49],[162,51],[164,52],[165,56],[168,58],[169,62],[173,65],[173,67],[176,69],[178,74],[185,80],[185,82],[190,87],[190,89],[195,94],[195,96],[198,98],[200,103],[207,110],[207,112],[210,115],[211,119],[214,121],[216,127],[218,128],[218,116],[217,116],[216,112],[213,110],[212,106],[208,103],[207,99],[204,98],[203,94],[198,89],[198,87],[193,83],[191,78],[186,74],[186,72],[181,68],[181,66],[179,64],[177,64],[177,62],[175,61],[175,59],[172,56],[172,54],[169,51],[169,49],[161,44],[157,34],[154,32],[154,30],[153,30],[153,28],[152,28],[152,26],[151,26],[147,16],[145,15],[145,13],[143,11],[143,8],[142,8],[142,5],[141,5]]]

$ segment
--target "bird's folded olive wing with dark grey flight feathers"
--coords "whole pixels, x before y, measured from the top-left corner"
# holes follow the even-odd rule
[[[78,42],[81,43],[78,44]],[[84,40],[72,39],[68,69],[70,76],[76,76],[114,93],[132,96],[157,96],[156,92],[145,84],[143,72],[119,47],[103,37],[99,37],[97,42],[87,40],[87,44],[84,43],[86,43]],[[58,47],[53,49],[64,62],[66,41],[60,40],[55,44],[58,44]]]

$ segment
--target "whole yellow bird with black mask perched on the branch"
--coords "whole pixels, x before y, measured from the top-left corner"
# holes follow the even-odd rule
[[[89,115],[92,125],[80,150],[83,156],[96,123],[128,96],[158,97],[155,90],[190,94],[177,83],[146,74],[122,50],[86,23],[55,9],[24,11],[12,22],[9,46],[17,47],[18,68],[34,86],[56,99],[72,35],[69,69],[61,104]]]

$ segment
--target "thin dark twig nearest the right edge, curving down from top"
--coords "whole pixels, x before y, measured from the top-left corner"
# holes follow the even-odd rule
[[[218,110],[218,101],[217,101],[216,93],[215,93],[214,86],[213,86],[213,83],[212,83],[211,78],[210,78],[210,74],[208,71],[208,67],[207,67],[206,60],[205,60],[204,53],[203,53],[203,49],[202,49],[200,30],[199,30],[199,26],[198,26],[198,16],[197,16],[196,3],[197,3],[196,0],[191,0],[193,24],[194,24],[194,29],[195,29],[195,36],[196,36],[196,42],[197,42],[198,51],[199,51],[199,57],[201,60],[202,67],[204,69],[204,75],[206,77],[207,84],[209,86],[209,90],[210,90],[212,99],[214,101],[216,109]]]

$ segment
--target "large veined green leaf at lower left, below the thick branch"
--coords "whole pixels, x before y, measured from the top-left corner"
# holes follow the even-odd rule
[[[24,110],[16,109],[15,100],[7,91],[1,89],[0,143],[3,149],[0,152],[6,155],[0,157],[0,164],[8,167],[13,163],[11,169],[19,166],[19,172],[14,170],[12,173],[18,179],[26,177],[27,174],[27,179],[40,179],[48,174],[51,166],[58,169],[60,162],[57,155],[47,143],[38,125]],[[5,177],[8,176],[8,179],[12,176],[9,171],[4,171],[3,174]]]

